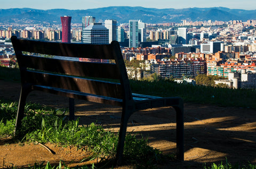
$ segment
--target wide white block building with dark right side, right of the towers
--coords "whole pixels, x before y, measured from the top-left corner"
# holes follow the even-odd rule
[[[215,54],[223,50],[221,41],[209,41],[207,44],[201,44],[201,53]]]

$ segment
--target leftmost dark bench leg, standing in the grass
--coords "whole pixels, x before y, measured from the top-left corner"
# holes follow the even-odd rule
[[[17,116],[16,116],[14,135],[16,135],[17,131],[20,129],[21,120],[23,119],[23,116],[24,116],[26,99],[27,99],[27,96],[28,96],[30,91],[31,90],[30,90],[29,87],[26,87],[26,86],[22,86],[21,87],[18,111],[17,111]]]

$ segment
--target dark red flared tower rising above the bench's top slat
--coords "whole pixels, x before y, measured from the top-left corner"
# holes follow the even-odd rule
[[[71,16],[61,16],[60,19],[61,19],[61,24],[62,24],[62,42],[70,43]]]

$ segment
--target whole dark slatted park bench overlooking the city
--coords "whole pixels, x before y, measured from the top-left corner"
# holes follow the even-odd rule
[[[172,106],[177,114],[177,158],[183,160],[182,99],[132,94],[117,41],[112,41],[111,44],[92,45],[28,40],[15,36],[11,37],[11,41],[21,74],[15,131],[21,126],[26,98],[33,90],[69,97],[71,117],[74,117],[74,98],[121,106],[121,126],[115,157],[115,163],[121,165],[129,117],[142,109]],[[54,57],[42,57],[38,54]],[[67,57],[83,58],[87,62],[74,61]]]

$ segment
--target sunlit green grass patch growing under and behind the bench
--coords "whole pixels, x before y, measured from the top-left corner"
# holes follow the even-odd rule
[[[6,103],[0,100],[0,138],[13,136],[17,103]],[[113,162],[118,143],[118,134],[104,130],[102,126],[91,123],[78,125],[79,119],[67,120],[63,109],[53,109],[28,103],[22,127],[14,141],[51,142],[60,146],[76,146],[91,152],[87,159],[98,158],[102,162]],[[7,116],[5,116],[7,114]],[[127,134],[124,147],[125,163],[137,166],[154,165],[163,160],[161,152],[149,146],[145,138],[138,139],[138,133]],[[149,162],[148,162],[148,159]]]

